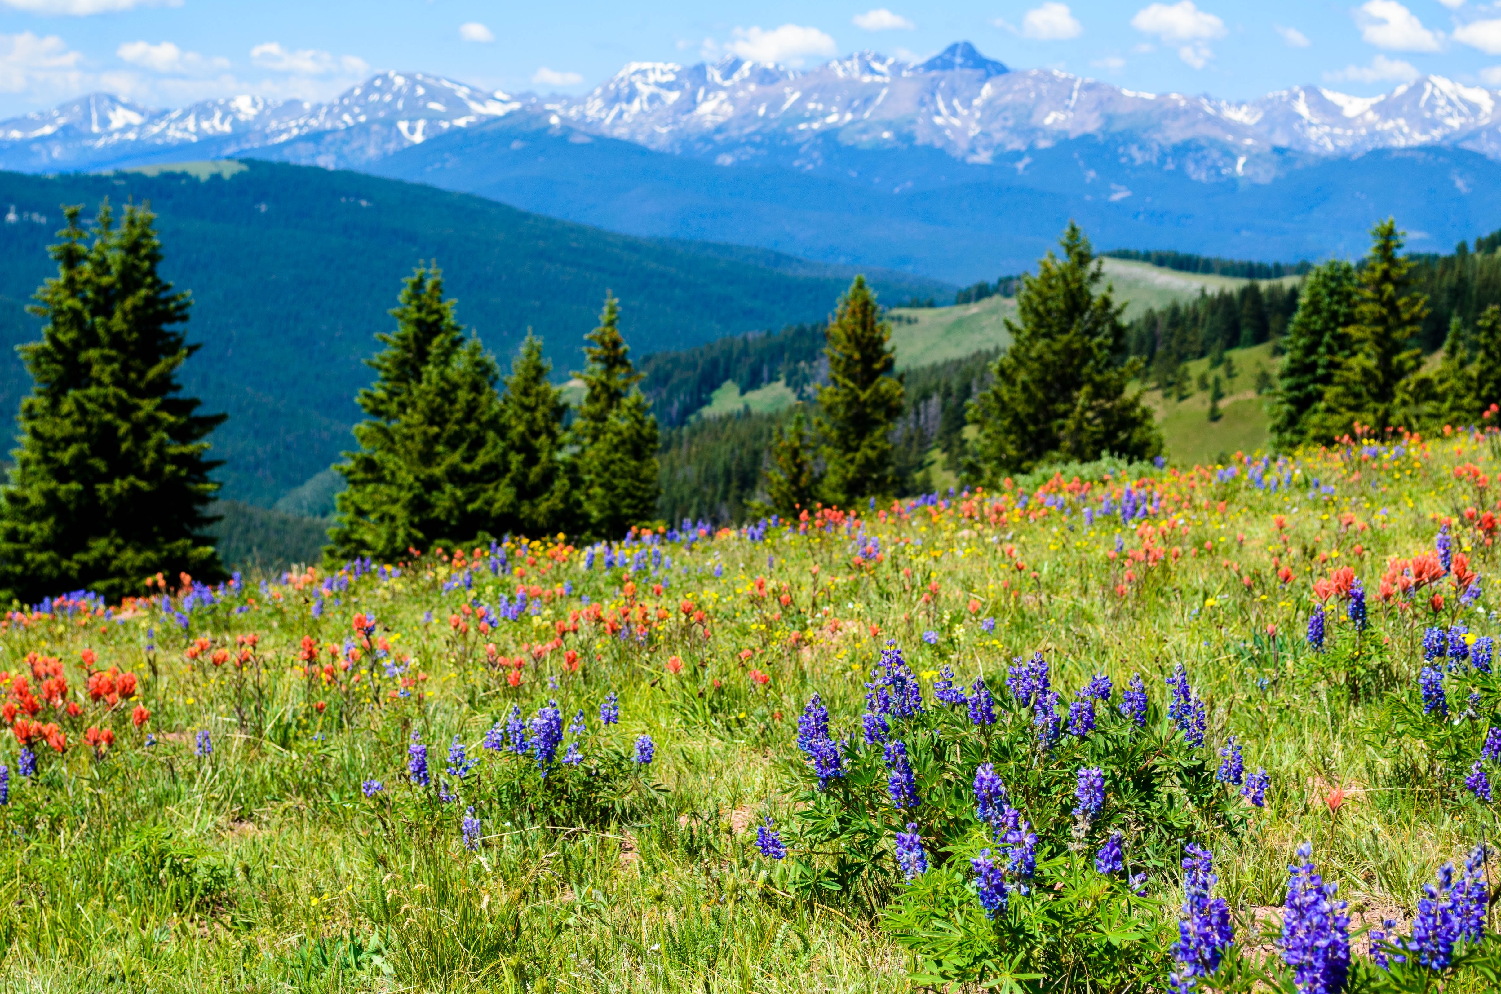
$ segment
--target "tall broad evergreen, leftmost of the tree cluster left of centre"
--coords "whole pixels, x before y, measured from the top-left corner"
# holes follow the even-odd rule
[[[410,548],[449,548],[492,535],[506,471],[498,369],[479,339],[465,339],[443,299],[443,273],[419,267],[375,338],[375,384],[360,390],[369,419],[354,426],[359,452],[335,465],[348,489],[329,532],[333,557],[405,559]]]

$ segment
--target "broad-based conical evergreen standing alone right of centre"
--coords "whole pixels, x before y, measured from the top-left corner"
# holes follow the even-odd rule
[[[970,407],[970,422],[980,429],[976,470],[986,483],[1051,459],[1162,452],[1141,393],[1126,392],[1136,363],[1117,363],[1124,305],[1109,285],[1097,290],[1103,264],[1076,224],[1061,245],[1063,258],[1049,251],[1036,276],[1022,276],[1021,323],[1006,321],[1012,347],[995,363],[995,383]],[[1180,392],[1184,378],[1180,374]]]

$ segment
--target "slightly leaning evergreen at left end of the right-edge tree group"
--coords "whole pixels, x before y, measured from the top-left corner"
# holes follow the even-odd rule
[[[1355,267],[1340,260],[1316,266],[1303,282],[1298,309],[1283,341],[1271,437],[1282,449],[1309,440],[1309,419],[1349,353],[1346,329],[1355,323]]]

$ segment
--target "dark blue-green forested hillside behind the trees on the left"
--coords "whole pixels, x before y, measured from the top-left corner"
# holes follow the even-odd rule
[[[375,332],[390,327],[386,311],[419,260],[444,267],[459,321],[495,354],[507,357],[530,327],[560,372],[579,363],[606,290],[620,297],[623,330],[642,354],[818,320],[848,282],[844,270],[775,252],[755,261],[699,254],[693,243],[356,173],[264,162],[0,173],[0,207],[9,206],[0,224],[0,410],[14,413],[27,387],[14,345],[39,327],[23,308],[56,273],[47,245],[62,224],[59,206],[81,203],[90,216],[105,197],[150,201],[158,213],[162,272],[192,291],[188,338],[203,344],[183,383],[230,414],[213,435],[224,495],[261,505],[350,447],[353,398],[369,381],[363,359]],[[953,293],[907,276],[875,282],[893,299]]]

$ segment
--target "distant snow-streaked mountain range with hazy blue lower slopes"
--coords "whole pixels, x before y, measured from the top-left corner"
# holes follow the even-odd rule
[[[630,63],[578,98],[384,72],[329,104],[96,93],[0,123],[9,170],[218,158],[968,282],[1028,267],[1070,216],[1102,248],[1294,260],[1357,254],[1394,213],[1412,248],[1448,248],[1501,222],[1501,92],[1426,77],[1235,102],[1010,71],[959,42],[803,71]]]

